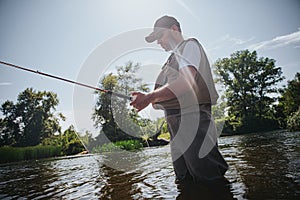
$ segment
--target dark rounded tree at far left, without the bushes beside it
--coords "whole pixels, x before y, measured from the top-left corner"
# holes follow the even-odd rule
[[[5,116],[0,120],[0,146],[35,146],[60,132],[59,118],[64,117],[54,115],[57,105],[56,94],[32,88],[21,92],[15,104],[4,102],[0,108]]]

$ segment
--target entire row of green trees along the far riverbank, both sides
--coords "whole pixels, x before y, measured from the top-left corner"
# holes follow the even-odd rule
[[[229,58],[215,63],[216,81],[224,85],[223,101],[214,107],[216,121],[224,123],[227,134],[250,133],[275,129],[300,130],[300,73],[284,87],[282,69],[270,58],[259,58],[256,51],[237,51]],[[100,87],[129,95],[131,91],[147,92],[149,87],[137,78],[140,65],[128,62],[117,67],[117,73],[107,74]],[[161,119],[142,118],[130,108],[126,100],[107,93],[97,93],[92,120],[101,127],[100,134],[90,144],[100,144],[104,135],[110,141],[153,139],[152,136],[167,132]],[[59,124],[62,113],[55,114],[59,101],[53,92],[28,88],[18,95],[17,102],[6,101],[1,105],[0,146],[61,146],[66,154],[83,150],[78,133],[73,126],[62,132]],[[120,126],[121,124],[121,126]],[[142,129],[140,128],[142,127]],[[126,129],[127,131],[124,131]]]

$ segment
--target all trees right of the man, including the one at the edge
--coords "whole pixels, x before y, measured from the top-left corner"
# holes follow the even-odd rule
[[[300,129],[300,73],[283,88],[281,67],[256,51],[237,51],[215,63],[217,81],[224,84],[223,132],[229,134]]]

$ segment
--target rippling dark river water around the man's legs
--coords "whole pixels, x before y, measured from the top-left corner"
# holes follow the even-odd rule
[[[0,165],[0,199],[300,199],[300,132],[221,137],[219,147],[225,187],[175,184],[163,146]]]

